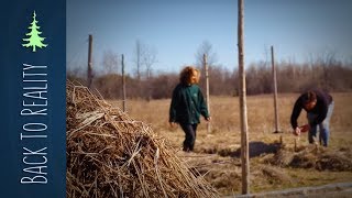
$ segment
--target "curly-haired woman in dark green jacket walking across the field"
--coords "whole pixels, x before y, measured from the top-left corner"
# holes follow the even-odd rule
[[[179,84],[173,91],[169,107],[169,123],[179,123],[185,132],[184,151],[194,151],[200,114],[210,121],[202,92],[197,85],[200,72],[191,66],[185,67],[179,75]]]

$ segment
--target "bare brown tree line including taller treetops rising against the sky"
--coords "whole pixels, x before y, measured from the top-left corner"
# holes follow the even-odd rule
[[[153,73],[157,63],[156,50],[141,41],[135,42],[133,75],[125,76],[128,98],[163,99],[170,98],[178,84],[178,73]],[[199,86],[206,90],[205,59],[209,70],[209,92],[212,96],[238,96],[239,72],[218,64],[217,54],[208,41],[204,41],[195,54],[195,66],[201,72]],[[102,57],[102,70],[94,70],[92,90],[107,99],[122,99],[121,58],[107,51]],[[275,63],[278,92],[301,92],[310,88],[328,91],[352,90],[352,62],[341,62],[333,52],[310,56],[306,63]],[[246,94],[262,95],[273,92],[272,65],[268,61],[251,63],[245,67]],[[67,78],[87,85],[87,74],[81,68],[67,68]]]

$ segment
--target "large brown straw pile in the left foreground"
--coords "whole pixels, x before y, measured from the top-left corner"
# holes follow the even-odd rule
[[[67,197],[218,197],[150,125],[67,81]]]

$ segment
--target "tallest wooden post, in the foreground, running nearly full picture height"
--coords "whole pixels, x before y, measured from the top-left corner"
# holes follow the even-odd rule
[[[242,164],[242,194],[250,193],[250,157],[249,157],[249,135],[246,117],[246,91],[244,70],[244,48],[243,48],[243,0],[239,0],[238,16],[238,46],[239,46],[239,73],[240,73],[240,119],[241,119],[241,164]]]

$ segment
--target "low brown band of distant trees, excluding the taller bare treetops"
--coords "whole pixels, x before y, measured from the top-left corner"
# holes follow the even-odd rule
[[[205,92],[205,72],[201,73],[200,87]],[[246,94],[261,95],[273,92],[272,66],[267,63],[251,64],[246,67]],[[328,91],[352,90],[352,65],[337,61],[315,62],[311,64],[276,64],[278,92],[300,92],[309,88],[322,88]],[[67,73],[67,78],[87,85],[85,77]],[[178,74],[154,74],[148,77],[125,77],[128,98],[162,99],[170,98],[178,84]],[[212,96],[237,96],[239,88],[238,69],[229,70],[221,66],[209,66],[209,92]],[[95,76],[92,89],[106,99],[122,98],[122,76],[106,74]]]

